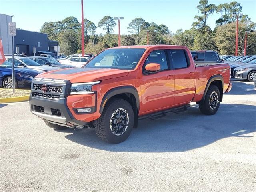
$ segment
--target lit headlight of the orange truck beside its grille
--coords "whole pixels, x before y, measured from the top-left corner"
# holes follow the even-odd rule
[[[88,83],[72,83],[70,88],[70,95],[76,94],[91,94],[92,86],[99,84],[100,81],[88,82]]]

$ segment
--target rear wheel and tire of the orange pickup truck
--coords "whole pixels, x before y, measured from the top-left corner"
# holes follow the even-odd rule
[[[220,106],[220,90],[216,85],[208,89],[204,101],[199,102],[199,109],[202,114],[214,115]]]

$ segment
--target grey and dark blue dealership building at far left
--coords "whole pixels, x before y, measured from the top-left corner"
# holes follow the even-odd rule
[[[2,40],[4,54],[12,54],[12,36],[9,35],[8,23],[12,22],[12,16],[0,14],[0,39]],[[48,40],[46,33],[32,32],[27,30],[16,30],[14,36],[14,53],[16,47],[19,54],[25,53],[27,56],[34,56],[34,48],[36,56],[40,54],[50,54],[55,56],[54,46],[58,45],[57,41]]]

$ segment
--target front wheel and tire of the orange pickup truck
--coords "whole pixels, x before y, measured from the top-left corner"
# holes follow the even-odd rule
[[[126,100],[118,98],[107,102],[100,118],[94,121],[97,136],[112,144],[126,140],[133,126],[134,111],[132,106]]]

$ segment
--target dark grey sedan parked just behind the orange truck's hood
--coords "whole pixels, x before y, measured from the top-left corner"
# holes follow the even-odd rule
[[[66,68],[73,68],[72,65],[63,65],[56,61],[55,59],[47,58],[47,57],[28,57],[40,65],[47,65],[52,67],[57,67],[58,69],[66,69]]]

